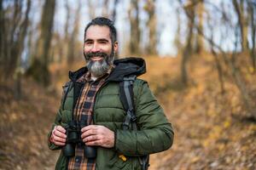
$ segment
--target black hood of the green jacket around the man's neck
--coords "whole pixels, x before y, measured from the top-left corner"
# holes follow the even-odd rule
[[[113,65],[115,67],[108,77],[108,81],[120,82],[125,76],[136,75],[138,77],[146,72],[146,62],[142,58],[115,59]],[[82,67],[78,71],[69,71],[69,78],[72,81],[76,81],[87,71],[87,67]]]

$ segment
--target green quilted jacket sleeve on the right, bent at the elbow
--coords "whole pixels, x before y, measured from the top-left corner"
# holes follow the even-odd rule
[[[134,89],[138,131],[118,129],[115,132],[115,149],[126,156],[148,155],[172,146],[172,124],[148,88],[148,83],[138,80]]]

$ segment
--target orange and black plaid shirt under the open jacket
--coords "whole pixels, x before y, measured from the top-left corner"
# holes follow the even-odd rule
[[[73,114],[77,120],[87,120],[87,124],[93,124],[92,121],[92,111],[94,105],[94,99],[96,97],[97,91],[102,87],[106,78],[109,76],[110,72],[113,71],[111,67],[106,74],[102,77],[98,77],[96,81],[91,80],[90,73],[87,72],[83,77],[80,77],[78,82],[85,82],[82,94],[79,96],[78,102],[76,103]],[[96,159],[87,159],[84,157],[83,146],[77,144],[75,149],[75,156],[71,157],[68,161],[68,169],[86,169],[94,170],[96,169]]]

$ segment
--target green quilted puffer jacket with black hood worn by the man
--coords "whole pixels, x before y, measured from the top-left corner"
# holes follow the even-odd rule
[[[148,88],[148,83],[137,79],[134,82],[134,103],[137,116],[138,131],[122,130],[125,110],[119,99],[119,82],[129,74],[143,74],[145,62],[139,58],[114,60],[115,68],[106,83],[96,94],[93,110],[93,121],[96,125],[108,127],[115,133],[115,145],[112,149],[97,147],[96,169],[141,169],[137,156],[143,156],[167,150],[173,141],[172,124],[168,122],[164,111]],[[70,72],[71,82],[81,77],[87,69]],[[61,99],[61,107],[55,117],[55,125],[67,126],[73,112],[73,88],[68,89],[67,97]],[[51,131],[48,135],[50,137]],[[61,147],[49,142],[50,150]],[[119,155],[124,155],[123,161]],[[67,169],[67,158],[61,155],[55,169]]]

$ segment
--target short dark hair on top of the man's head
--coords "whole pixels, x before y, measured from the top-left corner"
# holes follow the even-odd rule
[[[108,18],[105,18],[105,17],[96,17],[95,19],[91,20],[90,23],[88,23],[84,29],[84,41],[85,41],[86,31],[90,26],[108,26],[110,31],[111,41],[112,43],[116,42],[117,40],[116,29],[113,26],[112,20],[109,20]]]

